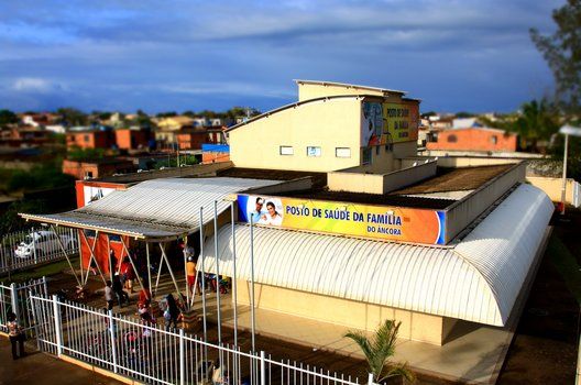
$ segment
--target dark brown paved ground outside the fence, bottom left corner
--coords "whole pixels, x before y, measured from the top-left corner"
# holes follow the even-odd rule
[[[10,341],[0,336],[0,384],[10,385],[116,385],[122,384],[92,371],[66,363],[29,348],[30,354],[13,361]]]

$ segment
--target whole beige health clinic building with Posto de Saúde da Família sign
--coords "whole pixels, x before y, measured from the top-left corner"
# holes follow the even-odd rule
[[[401,338],[441,345],[462,323],[518,319],[553,212],[524,184],[525,165],[419,157],[419,100],[296,82],[297,102],[228,130],[231,162],[167,170],[169,179],[79,182],[90,184],[78,186],[86,196],[107,196],[23,217],[131,242],[195,240],[204,226],[205,271],[232,277],[235,255],[239,305],[250,304],[252,250],[257,308],[349,328],[396,319]]]

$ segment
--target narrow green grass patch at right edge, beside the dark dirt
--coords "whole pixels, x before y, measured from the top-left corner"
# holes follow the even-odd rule
[[[581,271],[579,270],[577,258],[555,234],[550,238],[547,249],[550,262],[563,277],[569,292],[577,299],[577,302],[581,305]]]

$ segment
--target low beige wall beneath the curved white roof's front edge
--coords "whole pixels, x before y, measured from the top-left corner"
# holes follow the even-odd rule
[[[238,282],[238,301],[240,305],[250,305],[249,287],[250,284],[246,280]],[[268,285],[256,284],[254,290],[257,308],[366,331],[374,331],[380,322],[385,319],[395,319],[402,321],[399,338],[437,345],[443,344],[456,322],[451,318]]]

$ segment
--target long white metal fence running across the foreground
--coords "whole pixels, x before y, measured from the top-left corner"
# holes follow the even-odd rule
[[[147,384],[353,385],[322,369],[276,361],[265,352],[207,343],[112,311],[32,296],[39,348],[66,354]]]

